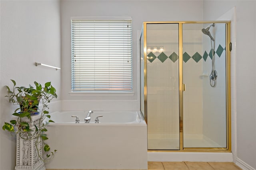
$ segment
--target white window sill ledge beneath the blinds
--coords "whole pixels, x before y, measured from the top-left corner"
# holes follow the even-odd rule
[[[114,91],[85,91],[85,92],[69,92],[70,96],[134,96],[133,91],[114,92]]]

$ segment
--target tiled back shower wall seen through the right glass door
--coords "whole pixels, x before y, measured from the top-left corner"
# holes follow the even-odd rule
[[[199,24],[183,24],[183,127],[184,147],[189,135],[202,134],[202,31]],[[189,145],[189,146],[188,146]]]

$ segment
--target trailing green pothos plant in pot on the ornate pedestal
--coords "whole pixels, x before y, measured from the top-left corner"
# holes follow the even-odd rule
[[[56,89],[51,85],[51,82],[46,82],[42,86],[38,82],[34,82],[35,88],[31,85],[29,87],[16,86],[16,82],[11,80],[13,86],[5,86],[8,90],[8,95],[5,96],[8,98],[10,103],[18,105],[12,115],[16,116],[16,119],[10,120],[10,123],[5,122],[2,129],[9,131],[11,133],[16,133],[20,138],[24,140],[36,139],[36,149],[38,152],[44,149],[44,154],[46,156],[40,156],[41,160],[48,160],[54,157],[54,154],[57,150],[50,151],[50,146],[45,143],[45,140],[48,139],[46,135],[46,126],[49,122],[54,122],[50,119],[48,114],[49,109],[47,104],[53,99],[57,98]],[[42,108],[39,111],[39,103],[42,103]],[[28,120],[31,120],[31,117],[34,115],[40,115],[39,123],[33,125],[33,127],[28,123]],[[44,119],[48,117],[48,121]],[[38,148],[38,143],[42,139],[42,148]]]

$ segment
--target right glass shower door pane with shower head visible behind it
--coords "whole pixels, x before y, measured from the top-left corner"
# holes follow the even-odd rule
[[[185,23],[182,32],[183,147],[226,148],[226,24]]]

